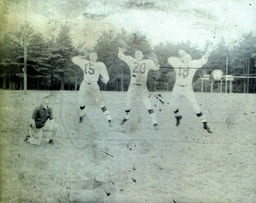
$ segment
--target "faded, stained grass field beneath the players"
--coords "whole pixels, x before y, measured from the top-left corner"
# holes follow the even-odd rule
[[[212,134],[187,101],[175,126],[171,104],[142,102],[121,131],[125,92],[103,92],[114,126],[93,102],[78,123],[78,93],[52,100],[55,143],[23,141],[47,91],[0,91],[1,202],[256,202],[256,95],[196,93]],[[171,93],[161,92],[171,103]]]

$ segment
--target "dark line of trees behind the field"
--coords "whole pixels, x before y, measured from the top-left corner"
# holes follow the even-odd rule
[[[11,75],[11,80],[22,80],[23,74],[23,46],[24,36],[28,41],[28,89],[78,89],[83,80],[83,71],[71,62],[77,54],[70,35],[70,27],[64,25],[56,37],[45,38],[42,33],[36,32],[31,26],[23,25],[15,33],[8,33],[0,40],[0,76]],[[160,77],[152,72],[148,75],[149,89],[153,83],[168,83],[171,87],[175,82],[175,72],[168,64],[167,59],[178,56],[178,50],[183,49],[193,59],[199,59],[207,50],[209,42],[204,48],[198,48],[189,40],[180,43],[160,43],[151,46],[146,35],[140,31],[129,33],[121,30],[103,32],[98,38],[94,50],[98,53],[99,61],[106,64],[110,81],[107,86],[100,84],[107,90],[127,90],[130,82],[129,67],[117,57],[117,48],[120,41],[129,46],[127,55],[134,55],[136,49],[142,50],[145,58],[157,58],[161,66]],[[82,42],[81,42],[82,43]],[[253,33],[245,34],[239,41],[228,45],[221,39],[211,53],[208,63],[198,70],[194,77],[194,88],[200,89],[199,78],[211,74],[215,69],[226,73],[228,58],[228,75],[256,75],[255,58],[256,36]],[[243,92],[245,80],[234,80],[234,92]],[[256,92],[256,81],[249,81],[250,92]],[[161,89],[161,87],[158,87]]]

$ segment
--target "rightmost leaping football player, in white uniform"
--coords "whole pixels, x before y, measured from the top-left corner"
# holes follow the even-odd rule
[[[201,121],[203,122],[203,128],[209,133],[212,132],[197,103],[192,88],[192,80],[196,71],[207,63],[209,55],[210,51],[203,55],[201,59],[192,60],[191,56],[187,54],[184,50],[179,50],[179,57],[170,57],[168,59],[169,64],[174,68],[176,72],[176,82],[172,91],[174,104],[177,105],[177,108],[174,111],[176,126],[180,124],[180,120],[182,118],[182,116],[179,114],[179,99],[180,96],[184,96],[191,103],[191,106],[197,117],[201,118]]]

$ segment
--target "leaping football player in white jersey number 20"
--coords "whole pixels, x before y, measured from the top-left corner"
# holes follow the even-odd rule
[[[123,125],[129,119],[131,111],[131,102],[135,96],[142,99],[144,106],[148,110],[153,123],[153,127],[157,129],[158,124],[152,105],[150,103],[149,92],[147,89],[147,76],[149,70],[159,70],[160,66],[151,59],[143,59],[144,55],[140,50],[135,51],[135,57],[127,56],[124,50],[118,48],[118,57],[124,61],[130,68],[131,81],[127,92],[125,116],[121,122]]]

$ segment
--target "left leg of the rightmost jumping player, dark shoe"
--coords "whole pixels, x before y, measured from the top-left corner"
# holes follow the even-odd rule
[[[180,120],[182,119],[182,116],[180,114],[180,95],[183,92],[183,89],[177,88],[174,86],[173,91],[172,91],[172,99],[173,99],[173,105],[174,105],[174,110],[173,113],[176,118],[176,126],[180,125]]]

